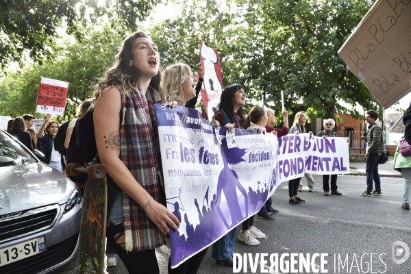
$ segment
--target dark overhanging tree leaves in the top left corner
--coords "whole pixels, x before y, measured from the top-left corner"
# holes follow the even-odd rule
[[[21,62],[25,51],[42,64],[53,58],[58,46],[57,30],[66,25],[68,34],[81,39],[88,26],[103,16],[129,29],[136,28],[161,0],[3,0],[0,1],[0,65]],[[101,3],[101,5],[99,4]]]

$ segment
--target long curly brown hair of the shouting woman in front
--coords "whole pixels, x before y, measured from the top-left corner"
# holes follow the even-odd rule
[[[101,95],[103,90],[111,88],[114,85],[119,85],[123,88],[125,95],[129,92],[135,91],[140,94],[137,84],[141,81],[141,73],[134,66],[130,66],[129,62],[133,59],[134,41],[138,38],[148,38],[143,32],[135,32],[123,40],[123,45],[119,53],[116,55],[116,60],[110,69],[105,73],[100,80],[95,96]],[[161,73],[158,71],[157,75],[151,78],[151,88],[157,90],[162,101],[164,101],[164,94],[160,88]]]

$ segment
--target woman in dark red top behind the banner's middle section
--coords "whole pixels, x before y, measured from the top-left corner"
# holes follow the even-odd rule
[[[282,129],[277,129],[274,128],[275,125],[275,113],[274,110],[271,110],[271,108],[266,110],[267,115],[269,116],[269,119],[267,120],[266,125],[264,126],[266,129],[266,132],[277,132],[277,137],[282,137],[286,136],[288,134],[288,111],[284,110],[282,112],[282,115],[284,117],[284,126]],[[262,206],[260,212],[258,212],[258,218],[261,219],[273,219],[269,214],[273,213],[278,213],[278,210],[273,208],[271,205],[273,204],[273,201],[271,200],[271,197],[266,201],[265,205]]]

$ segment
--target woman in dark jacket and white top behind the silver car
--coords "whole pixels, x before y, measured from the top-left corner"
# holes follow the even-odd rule
[[[59,129],[58,123],[50,122],[49,116],[45,116],[45,123],[42,124],[37,132],[40,151],[45,154],[45,164],[63,172],[66,168],[63,156],[54,149],[53,138]],[[45,132],[45,134],[43,134]]]

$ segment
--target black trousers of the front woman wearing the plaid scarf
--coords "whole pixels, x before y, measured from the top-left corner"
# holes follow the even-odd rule
[[[157,274],[160,273],[160,269],[157,262],[157,257],[155,256],[154,249],[147,249],[137,252],[127,252],[125,249],[121,248],[119,244],[114,240],[114,235],[124,232],[123,223],[119,225],[113,225],[109,223],[107,227],[107,232],[105,236],[110,240],[114,249],[116,249],[117,255],[123,261],[127,271],[129,273],[147,273],[147,274]],[[169,258],[169,273],[170,274],[196,274],[199,270],[201,261],[207,253],[207,249],[202,250],[197,253],[192,258],[186,260],[186,262],[180,264],[177,268],[171,269],[171,262]]]

